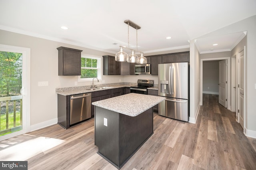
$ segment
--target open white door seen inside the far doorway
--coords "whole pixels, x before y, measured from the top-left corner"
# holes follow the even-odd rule
[[[227,60],[219,61],[219,103],[227,107]]]

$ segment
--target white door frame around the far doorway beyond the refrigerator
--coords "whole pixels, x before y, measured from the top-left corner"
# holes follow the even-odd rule
[[[230,110],[231,108],[231,101],[230,101],[230,57],[220,57],[220,58],[206,58],[200,59],[200,105],[203,105],[203,61],[210,61],[210,60],[227,60],[227,109]]]

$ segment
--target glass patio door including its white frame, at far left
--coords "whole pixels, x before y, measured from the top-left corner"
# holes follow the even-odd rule
[[[29,88],[30,49],[0,44],[0,141],[29,130]]]

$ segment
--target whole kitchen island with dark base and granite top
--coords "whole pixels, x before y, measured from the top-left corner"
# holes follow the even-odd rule
[[[93,102],[98,154],[120,169],[153,134],[153,106],[164,99],[129,93]]]

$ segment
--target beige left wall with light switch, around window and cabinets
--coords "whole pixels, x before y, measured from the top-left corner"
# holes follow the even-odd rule
[[[13,32],[0,30],[0,44],[31,49],[31,125],[57,119],[56,87],[74,86],[78,76],[58,76],[58,50],[64,46],[83,50],[82,53],[90,55],[111,55],[110,53],[77,47],[65,43],[54,42],[42,38],[35,38]],[[103,77],[106,83],[119,82],[120,77]],[[38,81],[48,81],[49,86],[38,86]],[[91,82],[78,83],[89,85]]]

